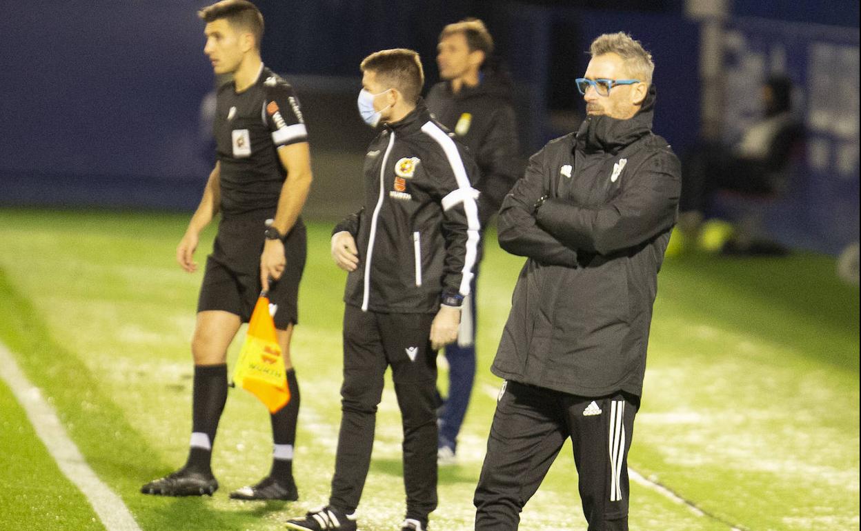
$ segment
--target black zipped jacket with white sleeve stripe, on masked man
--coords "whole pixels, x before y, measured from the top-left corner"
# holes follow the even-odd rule
[[[364,207],[333,231],[350,232],[359,252],[344,302],[400,313],[460,306],[480,239],[473,158],[424,102],[385,125],[368,150]]]

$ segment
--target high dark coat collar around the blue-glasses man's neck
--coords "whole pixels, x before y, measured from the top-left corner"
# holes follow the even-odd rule
[[[587,116],[577,132],[577,149],[616,154],[652,132],[654,118],[654,83],[649,87],[642,107],[629,120],[610,116]]]

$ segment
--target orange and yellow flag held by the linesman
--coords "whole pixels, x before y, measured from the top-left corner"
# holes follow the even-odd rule
[[[239,352],[233,383],[260,398],[270,413],[290,401],[284,358],[278,346],[275,321],[269,314],[269,298],[264,294],[251,312],[248,336]]]

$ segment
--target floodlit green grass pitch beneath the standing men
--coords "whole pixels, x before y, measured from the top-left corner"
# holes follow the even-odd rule
[[[173,260],[185,215],[0,210],[0,341],[58,411],[90,466],[141,528],[276,529],[325,503],[340,419],[341,293],[330,224],[309,224],[293,358],[301,386],[298,503],[236,503],[268,471],[262,404],[232,390],[212,498],[138,494],[182,464],[190,427],[201,273]],[[198,250],[205,261],[214,230]],[[459,447],[440,472],[435,530],[472,527],[471,499],[499,379],[487,370],[522,259],[491,243],[480,277],[479,375]],[[858,289],[822,256],[668,261],[660,274],[630,466],[707,516],[632,485],[631,528],[858,529]],[[241,341],[234,342],[229,361]],[[0,386],[0,529],[102,528]],[[377,423],[360,528],[403,517],[400,415],[391,386]],[[523,529],[585,529],[570,447],[523,513]],[[12,494],[14,492],[14,494]]]

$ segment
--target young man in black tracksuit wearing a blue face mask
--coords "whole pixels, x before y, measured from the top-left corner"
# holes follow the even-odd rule
[[[350,272],[335,475],[328,505],[287,527],[356,529],[391,366],[404,427],[401,529],[423,531],[437,507],[437,349],[457,337],[478,252],[475,164],[419,101],[418,53],[373,53],[362,72],[360,113],[383,129],[365,159],[365,205],[331,238],[332,258]]]

